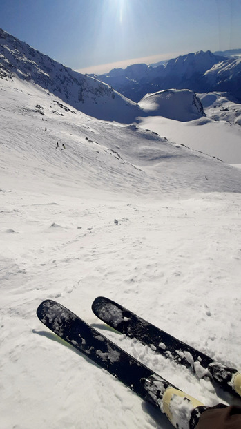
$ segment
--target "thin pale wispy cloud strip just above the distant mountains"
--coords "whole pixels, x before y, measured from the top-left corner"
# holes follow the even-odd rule
[[[127,66],[131,66],[131,64],[152,64],[157,63],[158,61],[164,61],[165,59],[171,59],[178,57],[178,55],[183,55],[184,53],[175,52],[175,53],[166,53],[159,55],[151,55],[149,57],[140,57],[133,59],[125,59],[124,61],[116,61],[115,63],[108,64],[100,64],[99,66],[91,66],[86,68],[79,68],[77,70],[79,73],[95,73],[96,75],[101,75],[102,73],[107,73],[113,68],[126,68]]]

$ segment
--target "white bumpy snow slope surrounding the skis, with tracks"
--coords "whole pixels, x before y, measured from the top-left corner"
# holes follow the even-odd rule
[[[171,428],[41,324],[46,298],[206,405],[230,403],[90,307],[108,296],[241,370],[241,171],[16,77],[0,116],[1,428]]]

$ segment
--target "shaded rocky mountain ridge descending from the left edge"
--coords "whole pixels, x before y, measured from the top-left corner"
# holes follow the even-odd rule
[[[98,119],[130,123],[141,113],[137,104],[108,84],[59,64],[0,29],[0,78],[16,77]]]

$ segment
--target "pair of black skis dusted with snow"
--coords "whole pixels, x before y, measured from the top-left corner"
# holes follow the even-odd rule
[[[108,298],[96,298],[92,309],[115,330],[191,367],[198,376],[209,376],[224,390],[241,396],[241,374],[234,368],[213,361]],[[113,374],[139,397],[153,403],[167,415],[173,426],[195,428],[200,414],[206,410],[200,401],[178,390],[56,301],[43,301],[37,308],[37,316],[55,334]]]

